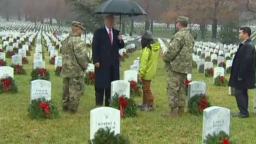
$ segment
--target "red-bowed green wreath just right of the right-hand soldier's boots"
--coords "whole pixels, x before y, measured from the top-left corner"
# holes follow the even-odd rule
[[[188,112],[196,116],[203,114],[203,110],[210,106],[208,98],[203,94],[194,95],[188,100]]]

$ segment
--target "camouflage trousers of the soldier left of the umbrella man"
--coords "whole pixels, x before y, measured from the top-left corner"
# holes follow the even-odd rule
[[[76,111],[79,105],[80,95],[84,87],[84,78],[63,78],[62,107],[70,111]]]

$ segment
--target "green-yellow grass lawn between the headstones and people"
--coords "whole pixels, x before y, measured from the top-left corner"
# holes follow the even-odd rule
[[[43,47],[46,51],[46,48]],[[33,48],[34,50],[34,48]],[[33,55],[34,52],[32,52]],[[139,51],[128,54],[129,58],[121,63],[121,79],[123,71],[128,70]],[[52,82],[52,101],[61,110],[62,78],[54,75],[54,65],[49,64],[49,56],[45,52],[46,68],[50,71]],[[10,64],[11,60],[7,59]],[[42,143],[42,144],[85,144],[90,136],[90,110],[95,106],[94,86],[86,86],[80,98],[79,110],[82,114],[70,114],[60,111],[60,117],[54,120],[31,120],[27,116],[30,103],[30,73],[33,58],[28,57],[29,64],[24,65],[27,75],[15,75],[18,93],[0,94],[0,143]],[[228,75],[226,75],[228,77]],[[196,69],[192,73],[193,81],[207,82],[207,96],[215,106],[238,111],[234,96],[228,95],[228,87],[216,87],[213,78],[205,78]],[[121,120],[121,133],[128,135],[132,144],[200,144],[202,138],[202,116],[184,114],[179,117],[164,118],[161,113],[169,110],[166,96],[166,69],[159,59],[158,72],[152,81],[155,96],[155,111],[139,112],[137,118]],[[250,117],[246,119],[231,118],[230,134],[238,144],[256,143],[256,116],[252,113],[253,91],[249,91]],[[139,103],[142,98],[136,98]]]

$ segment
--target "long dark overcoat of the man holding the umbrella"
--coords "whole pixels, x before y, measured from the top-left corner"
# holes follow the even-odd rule
[[[96,30],[92,39],[92,59],[94,64],[100,63],[100,68],[95,67],[95,87],[99,89],[110,88],[112,81],[119,80],[119,49],[124,42],[118,40],[119,31],[112,30],[112,44],[105,26]]]

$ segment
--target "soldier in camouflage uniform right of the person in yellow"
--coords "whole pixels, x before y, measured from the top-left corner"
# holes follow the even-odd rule
[[[163,116],[184,113],[185,107],[185,80],[192,71],[192,53],[194,39],[187,28],[188,18],[179,16],[176,21],[178,32],[174,34],[169,48],[163,55],[168,68],[167,96],[171,110]]]

